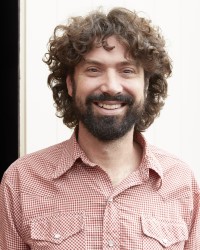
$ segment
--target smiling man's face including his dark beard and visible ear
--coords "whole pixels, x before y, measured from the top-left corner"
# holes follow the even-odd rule
[[[144,70],[125,58],[124,47],[107,40],[112,50],[93,48],[67,78],[79,126],[101,141],[116,140],[130,131],[144,107]]]

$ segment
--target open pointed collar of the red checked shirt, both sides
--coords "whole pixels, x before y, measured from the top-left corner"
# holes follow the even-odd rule
[[[152,170],[154,173],[156,173],[156,186],[159,188],[163,178],[163,170],[160,162],[152,152],[151,145],[147,143],[145,137],[141,133],[136,132],[134,139],[143,149],[142,161],[139,167],[142,179],[148,180],[151,174],[150,170]],[[63,149],[60,160],[52,173],[53,179],[59,178],[61,175],[63,175],[78,160],[81,160],[86,165],[96,166],[96,164],[92,163],[87,158],[84,151],[80,148],[76,139],[76,129],[73,132],[71,138],[62,145]]]

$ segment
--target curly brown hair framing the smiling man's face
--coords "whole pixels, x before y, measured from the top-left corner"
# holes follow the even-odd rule
[[[58,25],[49,39],[43,61],[49,66],[48,86],[53,92],[57,116],[69,128],[78,124],[73,100],[68,94],[66,76],[73,77],[76,65],[94,46],[103,46],[114,35],[145,72],[148,85],[145,109],[135,130],[145,131],[160,114],[167,97],[167,81],[172,65],[165,49],[165,40],[151,20],[136,11],[114,8],[103,13],[98,9],[85,17],[72,17],[66,25]]]

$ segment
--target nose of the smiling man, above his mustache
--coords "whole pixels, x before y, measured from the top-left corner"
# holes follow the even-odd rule
[[[102,93],[107,93],[109,95],[117,95],[122,93],[123,86],[120,81],[120,77],[117,72],[108,71],[105,73],[100,90]]]

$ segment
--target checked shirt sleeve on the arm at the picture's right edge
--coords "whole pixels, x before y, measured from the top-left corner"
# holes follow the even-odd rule
[[[193,180],[193,210],[191,213],[191,228],[189,239],[186,241],[184,250],[200,249],[200,188]]]

